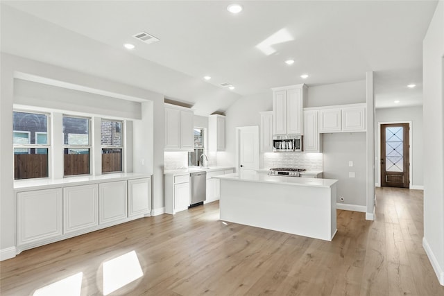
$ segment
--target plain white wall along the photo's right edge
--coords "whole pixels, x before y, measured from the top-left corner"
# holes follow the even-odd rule
[[[422,44],[424,137],[423,246],[444,286],[444,1]]]

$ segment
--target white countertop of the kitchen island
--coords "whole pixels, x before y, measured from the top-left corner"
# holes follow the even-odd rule
[[[321,179],[321,178],[302,178],[302,177],[284,177],[284,176],[270,176],[264,173],[233,173],[228,175],[219,175],[214,178],[221,180],[234,180],[244,182],[261,182],[272,184],[286,184],[296,186],[309,186],[309,187],[325,187],[330,188],[333,184],[338,182],[334,179]]]

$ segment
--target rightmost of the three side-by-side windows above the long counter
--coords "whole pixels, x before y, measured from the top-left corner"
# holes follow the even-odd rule
[[[102,119],[102,173],[122,171],[123,122]]]

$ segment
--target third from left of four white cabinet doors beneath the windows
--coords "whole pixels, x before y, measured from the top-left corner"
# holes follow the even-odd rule
[[[126,216],[126,181],[99,184],[99,224]]]

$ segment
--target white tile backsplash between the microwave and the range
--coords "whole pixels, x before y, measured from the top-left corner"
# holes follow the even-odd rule
[[[323,171],[322,153],[264,153],[264,168],[305,168]]]

